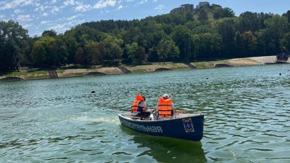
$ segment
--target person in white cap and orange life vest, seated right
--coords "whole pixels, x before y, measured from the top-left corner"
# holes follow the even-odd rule
[[[167,94],[164,94],[163,97],[159,97],[157,108],[154,110],[153,115],[155,119],[176,117],[174,104]]]

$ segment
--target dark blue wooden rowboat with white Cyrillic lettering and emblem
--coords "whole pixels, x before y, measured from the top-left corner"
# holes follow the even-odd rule
[[[163,120],[140,120],[139,117],[132,117],[131,113],[118,116],[122,126],[148,135],[190,141],[200,141],[203,136],[203,114],[177,113],[176,118]]]

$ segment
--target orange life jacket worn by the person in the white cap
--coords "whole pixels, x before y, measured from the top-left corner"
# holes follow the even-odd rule
[[[159,117],[171,117],[171,104],[172,100],[171,99],[166,99],[164,100],[162,97],[159,97],[158,101],[158,116]]]

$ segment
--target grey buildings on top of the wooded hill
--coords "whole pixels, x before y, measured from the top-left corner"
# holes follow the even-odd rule
[[[193,4],[184,4],[184,5],[180,5],[179,8],[175,8],[175,9],[171,10],[170,13],[180,13],[180,12],[195,13],[195,12],[198,12],[198,10],[200,10],[201,8],[203,8],[205,6],[210,6],[209,2],[200,2],[196,6],[195,9],[194,9],[194,5]]]

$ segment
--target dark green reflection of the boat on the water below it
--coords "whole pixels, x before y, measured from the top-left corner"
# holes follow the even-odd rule
[[[132,136],[138,147],[149,148],[141,155],[150,155],[158,162],[206,162],[205,154],[200,141],[186,141],[168,137],[149,136],[140,134],[125,127],[123,131]]]

